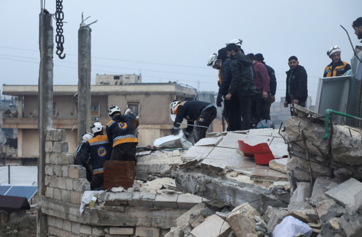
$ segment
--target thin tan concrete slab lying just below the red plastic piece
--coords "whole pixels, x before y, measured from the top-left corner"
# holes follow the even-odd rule
[[[251,180],[260,182],[288,181],[288,176],[282,172],[271,169],[269,166],[257,165],[251,171]]]

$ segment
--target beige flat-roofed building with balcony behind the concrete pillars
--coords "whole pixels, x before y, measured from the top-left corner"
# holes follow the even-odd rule
[[[103,75],[102,75],[103,76]],[[112,76],[112,75],[111,75]],[[126,76],[126,75],[123,75]],[[132,76],[132,75],[131,75]],[[139,79],[134,77],[134,80]],[[156,138],[170,135],[170,103],[173,100],[197,99],[195,89],[169,83],[107,83],[91,85],[91,118],[98,117],[105,126],[110,117],[108,107],[118,105],[123,112],[131,108],[140,118],[138,146],[153,145]],[[139,79],[141,80],[141,79]],[[98,81],[106,81],[104,78]],[[65,129],[69,152],[75,150],[77,140],[77,85],[53,86],[53,128]],[[3,85],[3,95],[17,96],[18,117],[3,118],[2,128],[17,129],[18,158],[39,156],[38,86]],[[91,126],[91,124],[89,125]],[[105,132],[105,131],[104,131]]]

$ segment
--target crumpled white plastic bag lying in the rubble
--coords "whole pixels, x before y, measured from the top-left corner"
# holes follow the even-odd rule
[[[298,233],[310,237],[312,228],[297,218],[288,215],[280,222],[280,224],[275,226],[273,237],[294,237]]]

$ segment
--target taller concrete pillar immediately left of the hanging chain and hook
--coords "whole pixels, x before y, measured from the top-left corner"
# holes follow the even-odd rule
[[[53,128],[53,26],[52,15],[42,11],[39,15],[39,81],[38,81],[38,198],[45,195],[45,131]],[[47,217],[37,210],[37,236],[46,233]]]

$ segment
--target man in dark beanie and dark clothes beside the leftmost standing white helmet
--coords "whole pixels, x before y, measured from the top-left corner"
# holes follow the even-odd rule
[[[221,60],[220,70],[220,87],[217,93],[216,105],[221,107],[222,97],[229,93],[229,87],[233,76],[230,71],[231,59],[226,54],[226,48],[220,49],[217,58]],[[238,131],[241,129],[241,114],[240,114],[240,102],[238,94],[231,97],[230,100],[224,100],[224,110],[222,115],[225,117],[228,124],[227,131]]]

